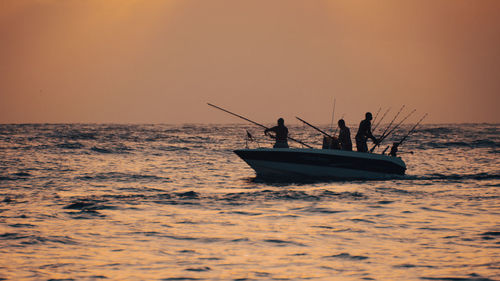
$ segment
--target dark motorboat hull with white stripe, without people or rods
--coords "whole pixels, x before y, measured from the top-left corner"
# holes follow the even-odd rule
[[[405,174],[400,157],[315,148],[256,148],[234,151],[261,178],[366,180]]]

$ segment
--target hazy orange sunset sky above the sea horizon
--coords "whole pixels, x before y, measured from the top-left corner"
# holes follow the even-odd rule
[[[0,123],[500,122],[500,1],[0,0]],[[415,116],[414,119],[417,119]]]

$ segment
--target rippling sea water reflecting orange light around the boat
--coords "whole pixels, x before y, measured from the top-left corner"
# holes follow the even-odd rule
[[[256,179],[245,130],[271,146],[246,124],[0,125],[0,280],[500,280],[499,124],[424,125],[404,179],[346,182]]]

